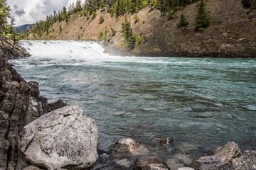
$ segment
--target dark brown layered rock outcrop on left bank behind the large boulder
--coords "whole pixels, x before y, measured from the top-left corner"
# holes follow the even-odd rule
[[[0,52],[0,169],[24,169],[29,163],[18,149],[18,133],[39,116],[66,106],[63,101],[48,104],[40,96],[38,83],[26,82]],[[10,57],[10,56],[9,56]]]

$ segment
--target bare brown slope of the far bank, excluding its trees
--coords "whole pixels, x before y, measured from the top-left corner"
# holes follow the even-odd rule
[[[206,1],[206,11],[210,15],[210,26],[201,32],[196,32],[195,17],[198,4],[191,4],[176,11],[173,19],[168,15],[161,16],[154,8],[144,8],[137,14],[128,14],[135,35],[145,36],[140,45],[124,55],[138,56],[184,56],[184,57],[255,57],[256,53],[256,13],[247,14],[247,9],[238,0]],[[184,14],[188,26],[177,28],[177,23]],[[135,16],[137,15],[137,16]],[[99,23],[100,16],[104,22]],[[30,39],[39,40],[99,40],[100,31],[105,29],[116,31],[110,38],[109,46],[124,49],[122,36],[124,16],[111,17],[109,13],[97,11],[96,18],[87,19],[81,14],[70,17],[68,23],[54,23],[48,35]],[[59,28],[62,28],[60,33]],[[143,39],[143,38],[142,38]],[[108,48],[113,52],[114,48]],[[122,50],[117,50],[118,55]]]

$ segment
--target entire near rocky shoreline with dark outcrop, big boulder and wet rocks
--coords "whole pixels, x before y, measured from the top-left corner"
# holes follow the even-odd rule
[[[4,169],[171,169],[150,147],[168,148],[171,137],[151,146],[118,140],[109,151],[97,148],[97,125],[78,106],[48,103],[38,83],[26,82],[7,62],[28,57],[21,47],[0,51],[0,170]],[[241,152],[235,142],[211,150],[190,169],[256,169],[256,151]]]

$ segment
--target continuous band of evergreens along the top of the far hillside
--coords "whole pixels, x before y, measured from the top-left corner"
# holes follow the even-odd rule
[[[95,18],[97,10],[106,11],[111,16],[118,18],[124,13],[137,13],[142,8],[151,6],[161,11],[162,15],[176,11],[178,8],[182,8],[187,4],[194,3],[198,0],[85,0],[82,3],[80,0],[76,3],[70,4],[68,8],[63,7],[61,11],[53,11],[53,14],[46,16],[46,21],[36,22],[36,25],[31,30],[25,30],[22,34],[22,38],[28,38],[29,34],[38,35],[41,37],[43,33],[48,35],[50,33],[51,26],[55,22],[65,21],[68,23],[70,16],[75,13],[80,13],[86,16],[87,19]]]

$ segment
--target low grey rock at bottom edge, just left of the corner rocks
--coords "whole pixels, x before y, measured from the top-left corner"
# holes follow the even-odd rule
[[[193,169],[195,170],[206,170],[206,169],[217,169],[219,166],[223,165],[219,157],[216,156],[206,156],[200,157],[193,162]]]

